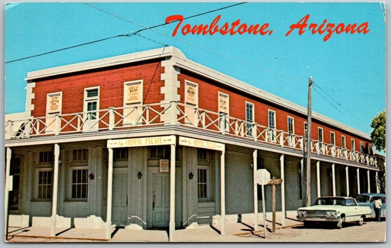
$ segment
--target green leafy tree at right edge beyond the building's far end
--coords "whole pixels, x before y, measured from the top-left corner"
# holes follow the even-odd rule
[[[372,139],[373,145],[379,151],[386,152],[386,111],[379,113],[372,119],[372,124],[370,127],[373,128],[370,133],[370,138]],[[382,192],[386,192],[386,166],[384,159],[378,159],[381,161],[380,166],[380,175],[377,183],[380,186]]]

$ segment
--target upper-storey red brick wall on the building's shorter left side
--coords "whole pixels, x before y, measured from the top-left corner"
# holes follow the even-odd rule
[[[36,81],[32,100],[35,117],[46,115],[46,95],[48,93],[63,91],[62,113],[83,112],[84,89],[100,86],[99,109],[109,107],[123,107],[124,82],[143,79],[144,104],[159,103],[164,99],[160,88],[164,81],[160,74],[164,72],[159,61],[145,64],[131,64],[116,68],[105,68],[78,74],[70,74],[58,78]]]

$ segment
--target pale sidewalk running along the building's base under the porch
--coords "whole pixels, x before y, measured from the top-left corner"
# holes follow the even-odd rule
[[[260,216],[261,217],[261,216]],[[279,228],[301,225],[296,220],[296,211],[287,211],[285,225],[281,225],[281,212],[276,213],[276,233]],[[266,213],[266,228],[272,229],[272,213]],[[9,227],[8,237],[30,237],[50,239],[49,242],[107,242],[105,229],[86,228],[57,228],[56,238],[50,237],[50,227]],[[111,229],[112,239],[109,242],[169,242],[167,230],[129,230],[124,228]],[[241,223],[227,223],[226,235],[220,235],[220,225],[199,225],[194,229],[177,229],[174,233],[174,242],[262,242],[263,218],[259,218],[259,230],[254,231],[254,221]],[[258,238],[243,238],[242,235],[255,234]],[[12,241],[12,239],[10,240]],[[34,241],[34,240],[32,240]],[[38,240],[37,240],[38,241]],[[39,241],[42,242],[42,241]]]

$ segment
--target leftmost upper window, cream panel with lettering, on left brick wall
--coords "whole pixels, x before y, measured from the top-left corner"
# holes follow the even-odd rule
[[[46,95],[46,129],[45,132],[54,132],[56,129],[56,115],[61,114],[63,106],[63,92],[48,93]]]

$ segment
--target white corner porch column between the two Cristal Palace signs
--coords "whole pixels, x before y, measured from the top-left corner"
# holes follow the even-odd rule
[[[171,145],[170,158],[170,226],[169,240],[174,241],[175,231],[175,145]]]

